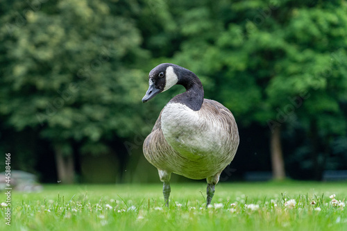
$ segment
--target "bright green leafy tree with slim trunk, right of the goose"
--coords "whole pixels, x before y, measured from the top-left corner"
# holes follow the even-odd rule
[[[346,131],[339,108],[346,65],[330,60],[337,53],[346,57],[347,17],[341,1],[272,2],[192,3],[180,17],[178,27],[187,38],[176,60],[210,76],[204,79],[212,85],[206,94],[235,112],[239,124],[269,126],[273,178],[282,179],[280,130],[297,120],[307,128],[308,121],[307,132],[325,128],[325,141],[337,132],[333,124],[341,125],[338,133]],[[316,148],[312,153],[319,155]]]

